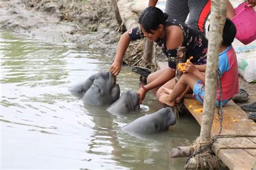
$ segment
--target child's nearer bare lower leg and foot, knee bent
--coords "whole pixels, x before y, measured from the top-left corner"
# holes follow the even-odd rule
[[[176,102],[175,102],[176,98],[184,93],[184,91],[187,88],[187,85],[193,89],[194,84],[197,82],[197,80],[198,80],[197,77],[195,77],[190,73],[183,74],[180,77],[180,80],[178,81],[178,83],[173,88],[172,93],[170,95],[161,94],[159,97],[159,101],[161,103],[164,103],[173,107],[174,105],[176,105]]]

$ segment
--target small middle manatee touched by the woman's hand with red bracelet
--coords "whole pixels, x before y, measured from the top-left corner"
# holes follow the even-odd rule
[[[139,95],[135,91],[124,91],[120,98],[106,109],[112,114],[127,114],[139,110]]]

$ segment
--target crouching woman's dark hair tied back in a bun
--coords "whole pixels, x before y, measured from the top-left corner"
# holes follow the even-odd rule
[[[150,30],[157,30],[160,24],[165,25],[167,18],[168,15],[159,8],[150,6],[143,10],[138,22],[147,33],[152,33]]]

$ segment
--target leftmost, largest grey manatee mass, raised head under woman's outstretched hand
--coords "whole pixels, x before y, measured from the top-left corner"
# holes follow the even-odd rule
[[[112,104],[120,96],[119,84],[111,72],[104,70],[91,75],[87,80],[72,86],[69,91],[91,105]]]

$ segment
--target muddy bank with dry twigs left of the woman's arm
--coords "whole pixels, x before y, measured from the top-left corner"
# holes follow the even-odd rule
[[[113,58],[120,37],[111,1],[1,0],[0,26],[36,39],[73,42]]]

